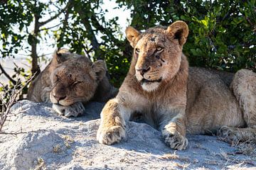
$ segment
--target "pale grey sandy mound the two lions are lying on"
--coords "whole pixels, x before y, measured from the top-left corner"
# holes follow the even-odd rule
[[[102,106],[90,103],[86,115],[63,118],[48,104],[16,103],[4,132],[18,135],[0,135],[0,169],[256,169],[256,153],[204,135],[188,135],[188,149],[174,151],[144,123],[128,123],[121,143],[100,145]]]

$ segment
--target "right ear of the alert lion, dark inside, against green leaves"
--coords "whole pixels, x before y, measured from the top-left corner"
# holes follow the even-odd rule
[[[176,21],[167,28],[167,33],[177,39],[180,45],[184,45],[188,37],[188,25],[183,21]]]

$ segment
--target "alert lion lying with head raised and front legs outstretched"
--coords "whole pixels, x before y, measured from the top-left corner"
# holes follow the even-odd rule
[[[225,76],[188,67],[182,52],[188,26],[183,21],[144,33],[129,26],[126,35],[134,47],[132,63],[119,93],[102,109],[100,143],[120,142],[134,113],[161,131],[171,149],[186,149],[186,133],[217,133],[227,142],[256,137],[254,72],[241,69]],[[230,76],[230,81],[223,80]]]

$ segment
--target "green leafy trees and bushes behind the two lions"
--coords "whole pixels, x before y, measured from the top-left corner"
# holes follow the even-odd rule
[[[228,72],[236,72],[242,68],[256,71],[255,0],[115,2],[119,6],[117,8],[125,7],[131,11],[129,22],[138,30],[159,24],[169,26],[177,20],[186,21],[190,33],[183,52],[191,66]],[[50,6],[55,6],[58,11],[51,11]],[[37,50],[38,44],[46,35],[55,37],[57,47],[69,45],[72,52],[84,53],[94,60],[106,60],[112,83],[120,86],[129,68],[132,47],[122,36],[118,18],[107,20],[102,6],[104,1],[97,0],[60,0],[46,3],[1,0],[0,57],[16,57],[22,43],[26,42],[31,72],[16,67],[16,74],[9,75],[0,63],[0,74],[10,80],[9,84],[0,85],[0,91],[11,91],[19,81],[18,75],[29,79],[32,74],[41,71],[38,67]],[[43,21],[42,17],[46,15],[50,18]],[[46,28],[47,23],[55,20],[60,21],[58,26]],[[29,26],[32,31],[28,29]],[[26,88],[23,89],[23,94],[26,94]]]

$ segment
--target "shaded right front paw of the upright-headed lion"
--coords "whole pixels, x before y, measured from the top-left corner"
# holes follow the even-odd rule
[[[162,135],[164,137],[164,142],[166,145],[171,147],[171,149],[183,150],[186,149],[188,145],[188,140],[186,137],[181,135],[179,132],[168,132],[167,130],[163,130]]]

